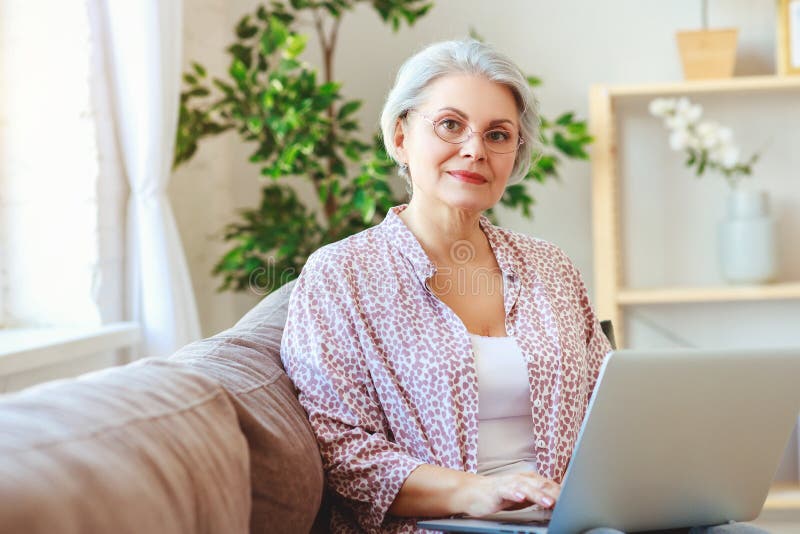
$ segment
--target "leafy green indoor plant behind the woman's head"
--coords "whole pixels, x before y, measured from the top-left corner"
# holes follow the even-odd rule
[[[432,7],[419,0],[360,0],[398,30]],[[332,65],[341,18],[359,0],[271,2],[244,16],[226,78],[210,79],[194,63],[184,75],[174,165],[192,157],[204,137],[235,130],[252,144],[250,161],[267,179],[258,207],[241,212],[226,228],[232,248],[217,263],[220,289],[269,293],[295,278],[320,246],[363,230],[402,201],[389,187],[394,163],[378,135],[359,135],[354,113],[359,100],[345,100]],[[310,17],[323,48],[322,80],[300,59],[307,36],[294,28]],[[475,35],[473,34],[475,37]],[[528,78],[531,86],[540,81]],[[558,177],[560,157],[586,159],[591,142],[586,122],[566,112],[542,118],[539,154],[526,180],[544,183]],[[304,176],[313,182],[320,206],[304,205],[281,178]],[[533,197],[525,182],[506,189],[501,203],[531,216]],[[321,211],[320,222],[316,212]],[[490,219],[493,214],[487,213]]]

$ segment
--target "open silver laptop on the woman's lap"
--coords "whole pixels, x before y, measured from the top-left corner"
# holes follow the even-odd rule
[[[800,348],[617,350],[600,369],[549,520],[428,530],[571,534],[756,518],[800,412]]]

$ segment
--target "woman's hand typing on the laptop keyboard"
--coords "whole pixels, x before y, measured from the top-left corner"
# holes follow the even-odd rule
[[[561,485],[534,472],[495,477],[474,475],[460,493],[462,512],[480,517],[531,504],[551,508],[561,494]]]

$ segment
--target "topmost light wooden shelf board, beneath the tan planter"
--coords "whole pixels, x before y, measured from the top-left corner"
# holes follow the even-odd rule
[[[626,96],[655,97],[676,94],[800,89],[800,76],[738,76],[719,80],[689,80],[637,85],[596,84],[596,86],[603,88],[613,98]]]

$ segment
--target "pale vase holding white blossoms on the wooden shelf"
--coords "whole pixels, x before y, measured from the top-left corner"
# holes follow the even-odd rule
[[[657,98],[650,113],[664,120],[673,150],[686,152],[686,166],[699,178],[706,171],[723,175],[728,184],[726,214],[717,228],[722,276],[732,283],[764,283],[777,274],[775,222],[765,191],[746,187],[758,153],[748,159],[733,141],[733,132],[702,121],[703,109],[688,98]]]

